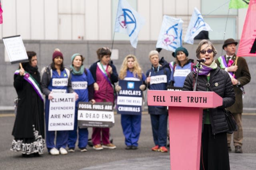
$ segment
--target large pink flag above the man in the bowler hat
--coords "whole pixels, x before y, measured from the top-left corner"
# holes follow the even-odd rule
[[[256,57],[256,0],[250,0],[247,10],[246,18],[244,21],[244,28],[240,43],[238,46],[237,56]]]

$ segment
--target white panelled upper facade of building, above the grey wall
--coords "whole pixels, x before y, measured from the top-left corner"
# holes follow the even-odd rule
[[[112,40],[118,0],[2,0],[0,38],[22,35],[26,40]],[[183,34],[194,8],[213,31],[211,40],[240,39],[246,9],[228,10],[229,0],[127,0],[146,23],[139,41],[156,41],[164,15],[184,21]],[[227,20],[228,18],[228,20]],[[184,36],[183,35],[183,36]],[[115,34],[115,40],[128,40]]]

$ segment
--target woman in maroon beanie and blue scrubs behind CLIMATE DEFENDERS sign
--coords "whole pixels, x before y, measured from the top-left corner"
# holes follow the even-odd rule
[[[52,64],[44,69],[42,75],[42,91],[46,96],[45,99],[45,124],[46,124],[46,147],[52,155],[67,154],[66,145],[68,141],[68,131],[56,132],[56,145],[54,144],[55,131],[48,131],[49,106],[53,93],[74,93],[76,100],[78,94],[72,90],[70,81],[70,71],[64,68],[63,55],[58,51],[52,54]]]

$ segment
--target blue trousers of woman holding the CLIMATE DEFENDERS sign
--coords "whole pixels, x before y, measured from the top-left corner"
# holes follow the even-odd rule
[[[50,101],[45,100],[45,127],[46,127],[46,147],[48,152],[52,148],[60,149],[66,148],[68,141],[68,131],[56,131],[56,145],[54,145],[55,131],[48,131],[48,122],[49,122],[49,106]]]

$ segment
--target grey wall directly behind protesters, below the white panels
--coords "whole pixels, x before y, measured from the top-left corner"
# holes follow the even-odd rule
[[[185,44],[184,47],[188,49],[189,58],[196,59],[195,51],[199,41],[195,41],[194,45]],[[224,54],[222,51],[223,41],[212,41],[218,50],[217,56]],[[35,51],[38,57],[38,67],[41,70],[44,66],[52,62],[52,53],[55,48],[59,48],[64,55],[64,64],[69,66],[70,58],[74,53],[82,54],[86,59],[84,65],[88,68],[92,63],[97,61],[96,50],[100,47],[111,47],[112,41],[24,41],[24,45],[27,51]],[[114,41],[113,49],[119,50],[119,59],[114,60],[114,64],[119,72],[120,66],[124,57],[128,54],[134,54],[138,58],[138,61],[146,72],[150,69],[151,64],[148,59],[148,53],[155,49],[156,41],[139,41],[137,48],[134,49],[129,41]],[[164,56],[167,61],[173,61],[172,52],[162,50],[160,57]],[[244,112],[256,112],[256,100],[255,100],[255,73],[256,73],[256,58],[244,57],[248,63],[250,73],[252,76],[251,82],[246,85],[246,95],[244,97]],[[4,44],[0,42],[0,107],[1,106],[13,106],[13,100],[17,96],[13,87],[13,75],[14,71],[18,68],[18,64],[10,64],[4,62]]]

